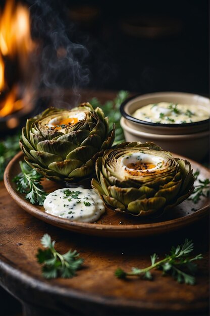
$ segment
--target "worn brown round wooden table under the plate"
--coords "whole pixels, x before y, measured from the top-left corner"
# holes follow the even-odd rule
[[[102,100],[115,93],[101,94]],[[82,99],[83,101],[84,99]],[[23,304],[25,316],[53,315],[207,315],[208,220],[147,238],[94,238],[50,226],[17,206],[0,183],[0,285]],[[72,279],[45,280],[36,261],[40,238],[48,233],[61,253],[77,249],[84,266]],[[154,271],[154,281],[118,280],[118,267],[146,267],[149,255],[160,257],[172,245],[192,239],[198,262],[197,284],[178,284]]]

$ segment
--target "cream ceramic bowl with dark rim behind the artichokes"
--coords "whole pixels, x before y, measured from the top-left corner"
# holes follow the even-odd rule
[[[161,120],[162,113],[158,107],[152,110],[154,120],[139,119],[135,117],[136,111],[153,104],[168,103],[172,113],[169,115],[170,121]],[[187,106],[188,113],[193,113],[187,123],[177,122],[178,117],[173,113],[173,108],[178,104],[179,109],[182,105]],[[189,106],[189,108],[188,108]],[[192,110],[192,111],[191,111]],[[209,149],[209,114],[210,99],[201,95],[183,92],[155,92],[137,95],[126,99],[120,108],[122,118],[121,126],[125,133],[126,141],[153,141],[160,145],[164,150],[172,151],[184,155],[196,161],[202,161],[207,157]],[[197,120],[193,118],[200,112],[207,113],[206,119]],[[173,116],[174,114],[174,116]],[[168,118],[167,116],[165,118]],[[162,123],[165,121],[167,123]],[[191,122],[192,121],[192,122]]]

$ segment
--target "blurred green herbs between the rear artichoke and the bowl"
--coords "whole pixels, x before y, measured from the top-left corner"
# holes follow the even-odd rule
[[[117,145],[123,141],[125,141],[123,130],[120,126],[120,119],[121,119],[121,113],[120,113],[120,106],[121,103],[129,96],[128,91],[121,90],[117,94],[116,98],[114,100],[110,100],[105,102],[104,104],[101,104],[99,100],[96,97],[93,97],[90,100],[90,104],[92,104],[93,108],[99,107],[103,110],[103,113],[105,116],[109,117],[109,124],[112,128],[113,124],[115,123],[115,141],[113,145]],[[110,115],[112,113],[112,115]]]

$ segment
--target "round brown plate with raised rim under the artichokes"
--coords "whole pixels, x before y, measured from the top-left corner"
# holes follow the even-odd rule
[[[179,157],[184,159],[180,155]],[[157,235],[194,223],[206,216],[209,211],[209,199],[202,198],[197,204],[194,204],[191,200],[186,200],[156,219],[137,218],[107,209],[106,213],[96,223],[70,222],[69,220],[45,213],[43,206],[32,205],[25,200],[23,194],[16,191],[16,185],[12,179],[20,172],[19,161],[21,160],[23,160],[23,154],[20,152],[9,163],[4,176],[5,186],[14,201],[36,218],[73,232],[104,237]],[[200,171],[200,179],[210,177],[210,170],[194,161],[190,161],[190,163],[194,171],[197,169]],[[43,186],[47,192],[60,188],[58,184],[47,180],[43,181]]]

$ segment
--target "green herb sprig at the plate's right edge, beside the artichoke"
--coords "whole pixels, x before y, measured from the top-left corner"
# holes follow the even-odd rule
[[[193,174],[198,184],[194,185],[195,189],[189,197],[189,200],[192,200],[195,204],[201,199],[201,196],[208,197],[210,192],[210,180],[208,178],[204,180],[198,179],[199,174],[199,170],[196,170]]]

